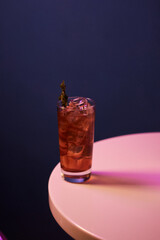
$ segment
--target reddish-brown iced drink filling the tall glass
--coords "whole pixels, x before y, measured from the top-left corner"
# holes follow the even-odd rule
[[[58,132],[61,168],[83,172],[91,168],[94,141],[95,108],[89,99],[72,98],[58,107]]]

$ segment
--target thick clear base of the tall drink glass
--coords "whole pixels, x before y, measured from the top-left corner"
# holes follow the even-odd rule
[[[91,168],[84,172],[68,172],[61,169],[61,175],[67,182],[82,183],[91,176]]]

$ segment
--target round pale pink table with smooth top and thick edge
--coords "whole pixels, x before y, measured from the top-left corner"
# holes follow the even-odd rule
[[[48,182],[49,206],[74,239],[160,240],[160,133],[94,143],[92,177],[74,184],[58,164]]]

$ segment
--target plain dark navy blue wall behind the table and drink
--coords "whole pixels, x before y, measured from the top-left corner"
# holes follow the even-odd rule
[[[59,85],[96,101],[96,141],[160,131],[160,2],[1,1],[0,79],[0,229],[69,239],[48,207]]]

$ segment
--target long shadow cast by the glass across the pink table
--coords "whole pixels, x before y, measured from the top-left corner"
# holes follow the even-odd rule
[[[85,184],[160,187],[160,172],[92,171]]]

